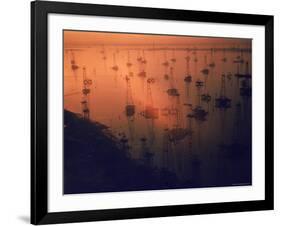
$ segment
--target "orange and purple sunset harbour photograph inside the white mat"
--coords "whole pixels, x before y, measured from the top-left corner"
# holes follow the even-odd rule
[[[252,185],[252,39],[62,32],[65,195]]]

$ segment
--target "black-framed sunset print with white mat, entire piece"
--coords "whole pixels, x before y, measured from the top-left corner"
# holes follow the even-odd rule
[[[31,223],[273,209],[273,16],[31,3]]]

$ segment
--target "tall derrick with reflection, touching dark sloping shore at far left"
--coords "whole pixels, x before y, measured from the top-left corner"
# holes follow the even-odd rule
[[[82,89],[82,112],[83,112],[83,118],[86,120],[90,119],[90,93],[91,93],[91,86],[92,86],[92,80],[87,78],[86,74],[86,68],[83,68],[83,89]]]

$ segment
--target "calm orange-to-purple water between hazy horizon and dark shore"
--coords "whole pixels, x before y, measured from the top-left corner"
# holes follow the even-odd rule
[[[234,63],[240,59],[244,63]],[[251,184],[251,97],[240,94],[251,79],[235,76],[251,73],[251,52],[97,47],[65,51],[64,60],[64,108],[83,116],[81,101],[87,102],[89,120],[106,125],[131,159],[197,181],[194,186]],[[231,106],[216,106],[221,96]],[[126,112],[128,105],[134,113]],[[196,116],[198,107],[203,115]]]

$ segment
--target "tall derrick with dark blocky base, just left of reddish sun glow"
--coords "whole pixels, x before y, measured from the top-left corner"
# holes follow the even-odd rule
[[[134,140],[134,120],[135,120],[136,106],[133,100],[131,81],[128,76],[126,76],[126,85],[127,85],[127,92],[126,92],[125,112],[128,120],[130,139]]]

